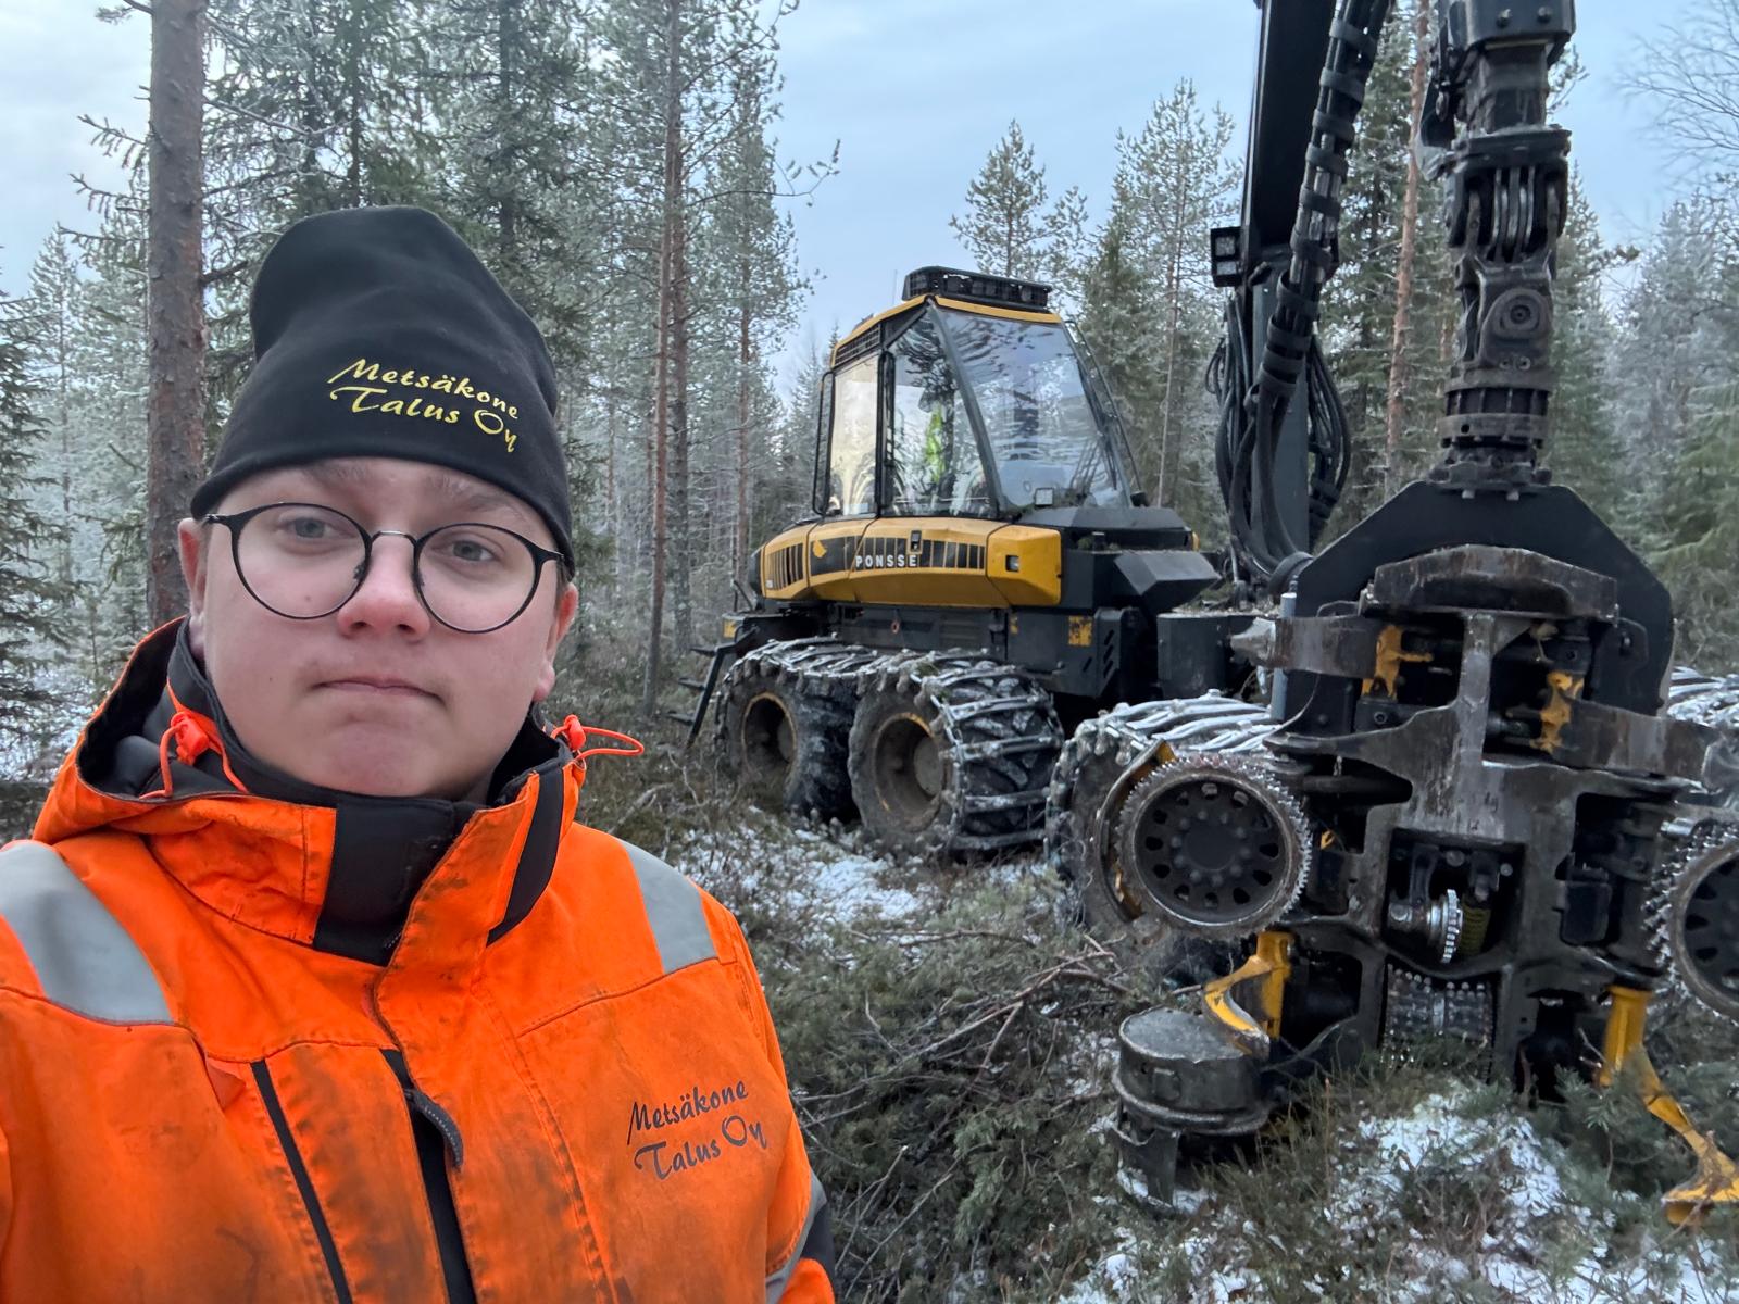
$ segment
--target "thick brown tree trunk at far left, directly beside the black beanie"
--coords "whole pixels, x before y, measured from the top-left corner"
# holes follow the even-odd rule
[[[200,301],[205,0],[151,9],[151,151],[146,233],[146,612],[188,605],[176,523],[205,471],[205,313]]]

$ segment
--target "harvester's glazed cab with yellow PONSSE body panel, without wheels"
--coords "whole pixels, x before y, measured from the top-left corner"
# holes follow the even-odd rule
[[[1116,407],[1049,294],[1035,282],[922,268],[899,304],[835,346],[816,428],[816,516],[760,549],[756,593],[863,603],[856,617],[840,614],[850,636],[906,647],[944,621],[903,607],[1085,614],[1082,577],[1066,574],[1076,567],[1063,553],[1096,542],[1167,553],[1162,565],[1129,570],[1123,586],[1153,610],[1214,582],[1177,515],[1148,506],[1136,487]],[[1066,582],[1082,589],[1068,602]]]

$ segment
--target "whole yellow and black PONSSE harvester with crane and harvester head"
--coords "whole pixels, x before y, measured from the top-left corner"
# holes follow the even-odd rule
[[[1669,593],[1542,466],[1574,3],[1435,0],[1442,457],[1316,553],[1348,447],[1316,318],[1389,3],[1257,5],[1212,379],[1229,579],[1275,607],[1179,610],[1219,574],[1136,487],[1043,285],[923,268],[835,349],[814,516],[755,555],[692,723],[716,697],[744,782],[856,807],[897,854],[1043,838],[1089,927],[1219,961],[1202,1012],[1120,1033],[1116,1137],[1155,1203],[1184,1135],[1419,1038],[1546,1094],[1629,1066],[1697,1154],[1669,1212],[1739,1201],[1642,1043],[1666,986],[1739,1021],[1734,685],[1675,678]]]

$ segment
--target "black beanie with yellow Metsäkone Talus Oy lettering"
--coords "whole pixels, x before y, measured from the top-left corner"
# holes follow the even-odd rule
[[[522,499],[572,569],[550,349],[447,223],[424,209],[304,217],[266,254],[249,322],[254,369],[195,516],[261,471],[403,457]]]

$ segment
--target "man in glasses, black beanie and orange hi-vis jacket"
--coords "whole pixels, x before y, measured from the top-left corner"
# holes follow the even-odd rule
[[[0,1299],[833,1299],[736,920],[576,822],[556,384],[419,209],[266,256],[144,638],[0,852]]]

